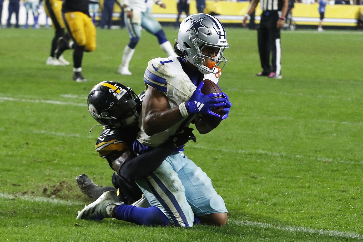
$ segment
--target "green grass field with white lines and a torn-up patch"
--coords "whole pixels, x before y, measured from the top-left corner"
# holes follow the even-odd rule
[[[254,77],[255,31],[227,34],[220,86],[231,113],[185,153],[211,177],[229,221],[180,229],[76,220],[90,200],[75,177],[107,186],[112,174],[94,151],[101,129],[88,133],[87,95],[105,80],[142,91],[147,61],[164,55],[155,37],[143,32],[125,77],[116,72],[126,30],[97,29],[83,58],[88,82],[76,83],[72,66],[45,65],[53,30],[0,29],[0,241],[363,240],[362,32],[282,32],[281,80]]]

